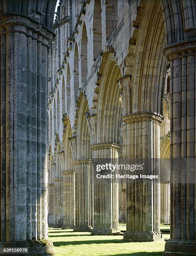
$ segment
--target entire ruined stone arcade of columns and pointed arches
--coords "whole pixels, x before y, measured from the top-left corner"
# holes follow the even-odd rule
[[[94,183],[92,160],[195,157],[196,0],[60,0],[53,24],[55,5],[0,1],[0,247],[51,255],[48,225],[123,220],[126,241],[171,223],[163,254],[196,255],[191,166],[136,186]]]

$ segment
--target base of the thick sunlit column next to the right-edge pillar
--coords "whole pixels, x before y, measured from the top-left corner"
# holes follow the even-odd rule
[[[131,242],[152,242],[162,240],[161,232],[134,232],[126,231],[123,235],[124,241]]]

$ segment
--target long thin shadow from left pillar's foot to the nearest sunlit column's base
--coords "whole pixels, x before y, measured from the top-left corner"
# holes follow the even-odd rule
[[[68,245],[81,245],[81,244],[104,244],[104,243],[129,243],[128,241],[123,241],[121,239],[110,239],[110,240],[87,240],[87,241],[61,241],[53,242],[54,246],[68,246]]]

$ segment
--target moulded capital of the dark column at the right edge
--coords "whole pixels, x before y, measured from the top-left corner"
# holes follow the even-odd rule
[[[189,54],[196,54],[196,38],[170,44],[163,49],[163,53],[170,61],[182,58]]]

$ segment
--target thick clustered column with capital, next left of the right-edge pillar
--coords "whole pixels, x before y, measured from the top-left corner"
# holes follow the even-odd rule
[[[150,172],[159,174],[161,115],[143,112],[123,115],[127,132],[128,159],[148,159]],[[137,173],[136,173],[137,174]],[[143,179],[127,183],[126,241],[155,241],[160,232],[160,183]]]

